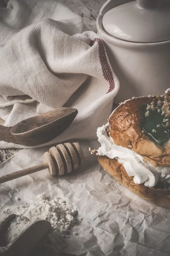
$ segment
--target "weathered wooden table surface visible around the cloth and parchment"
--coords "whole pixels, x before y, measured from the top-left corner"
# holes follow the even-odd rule
[[[64,3],[74,12],[81,15],[87,29],[96,32],[96,18],[106,0],[59,0],[59,2]],[[3,120],[1,119],[0,124],[3,124]],[[1,149],[0,163],[16,154],[18,151],[20,151],[20,149]]]

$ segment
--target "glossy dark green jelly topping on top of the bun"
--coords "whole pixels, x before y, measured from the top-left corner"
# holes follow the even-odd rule
[[[164,116],[161,112],[149,111],[149,116],[145,116],[147,106],[142,107],[141,128],[144,134],[158,145],[166,143],[170,138],[170,128],[167,128],[166,122],[163,122]]]

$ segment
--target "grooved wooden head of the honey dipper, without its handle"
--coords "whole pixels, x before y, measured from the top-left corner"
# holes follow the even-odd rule
[[[79,143],[64,143],[45,152],[44,162],[48,163],[50,175],[64,175],[84,162],[84,154]]]

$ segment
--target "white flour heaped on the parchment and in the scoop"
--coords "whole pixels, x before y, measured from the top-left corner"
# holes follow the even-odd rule
[[[45,193],[38,195],[37,201],[29,207],[10,207],[0,212],[0,220],[7,215],[14,213],[18,215],[13,218],[8,225],[4,238],[11,243],[31,222],[46,220],[51,223],[51,230],[43,237],[35,248],[35,254],[40,255],[59,255],[64,247],[63,238],[68,236],[68,230],[78,221],[75,216],[77,210],[69,209],[64,200],[55,198],[48,201]]]

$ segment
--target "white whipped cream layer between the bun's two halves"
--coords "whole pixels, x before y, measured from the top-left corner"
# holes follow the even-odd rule
[[[153,187],[159,180],[170,183],[170,167],[152,166],[133,150],[116,145],[112,137],[108,136],[108,127],[109,124],[106,124],[97,129],[97,137],[101,144],[97,155],[116,158],[136,184],[144,183],[145,186]]]

